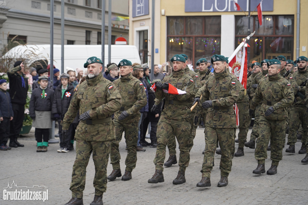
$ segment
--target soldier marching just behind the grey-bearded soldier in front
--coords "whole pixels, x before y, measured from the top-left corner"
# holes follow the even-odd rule
[[[122,176],[123,181],[132,179],[132,170],[137,162],[137,141],[138,141],[138,122],[140,120],[140,109],[147,104],[147,96],[143,83],[132,76],[132,62],[123,59],[120,61],[121,78],[113,81],[116,88],[119,89],[122,96],[122,106],[115,112],[115,139],[112,140],[110,150],[110,163],[112,172],[107,179],[113,181],[122,176],[120,169],[120,151],[119,143],[122,134],[125,132],[125,142],[127,145],[127,156],[125,159],[125,173]]]

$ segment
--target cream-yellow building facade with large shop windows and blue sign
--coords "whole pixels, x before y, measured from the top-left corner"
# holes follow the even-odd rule
[[[262,2],[262,25],[257,17],[261,0],[251,0],[250,62],[285,55],[287,59],[308,56],[308,6],[306,0],[266,0]],[[297,2],[300,3],[300,24],[297,24]],[[230,56],[248,33],[248,0],[155,1],[154,63],[169,61],[174,54],[185,53],[188,63],[213,54]],[[129,42],[140,50],[140,58],[150,63],[152,0],[130,0]],[[299,47],[296,47],[299,27]],[[145,37],[147,35],[147,38]],[[147,55],[145,54],[146,52]]]

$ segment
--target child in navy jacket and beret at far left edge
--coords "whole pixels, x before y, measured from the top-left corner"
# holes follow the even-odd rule
[[[13,109],[9,92],[6,92],[6,80],[0,80],[0,150],[10,150],[6,143],[10,136],[10,121]]]

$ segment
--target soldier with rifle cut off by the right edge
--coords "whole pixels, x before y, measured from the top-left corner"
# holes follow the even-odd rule
[[[307,120],[308,120],[308,108],[307,105],[307,94],[306,84],[302,86],[301,84],[308,79],[308,69],[307,69],[307,57],[300,56],[298,57],[298,71],[293,74],[294,80],[298,84],[298,93],[294,92],[296,96],[293,105],[290,109],[290,128],[288,135],[288,145],[289,148],[286,149],[286,152],[295,153],[295,143],[297,141],[297,130],[302,124],[303,135],[302,135],[302,147],[298,151],[298,154],[306,154],[306,139],[307,139]],[[307,93],[307,94],[306,94]],[[306,96],[305,96],[306,95]],[[303,97],[303,98],[302,98]],[[305,99],[306,98],[306,99]]]

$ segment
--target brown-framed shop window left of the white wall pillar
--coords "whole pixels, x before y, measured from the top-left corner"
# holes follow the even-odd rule
[[[195,68],[198,59],[220,54],[220,16],[168,17],[167,22],[167,61],[184,53]]]

